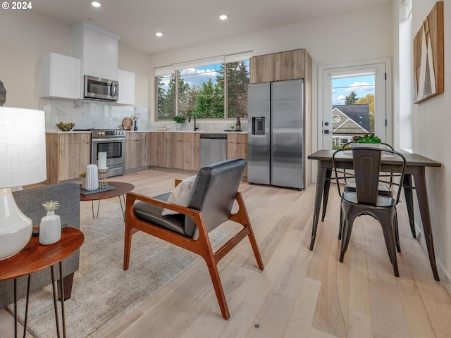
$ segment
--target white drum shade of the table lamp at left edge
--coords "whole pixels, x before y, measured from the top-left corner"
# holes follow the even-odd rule
[[[0,188],[47,179],[44,111],[0,107]]]

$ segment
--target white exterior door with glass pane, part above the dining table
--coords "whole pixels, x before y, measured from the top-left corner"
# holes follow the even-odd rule
[[[352,137],[364,134],[391,142],[387,132],[389,66],[389,60],[320,66],[320,149],[339,149]]]

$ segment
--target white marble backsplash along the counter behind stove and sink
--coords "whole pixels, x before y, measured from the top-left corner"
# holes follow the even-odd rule
[[[102,101],[41,99],[40,108],[45,112],[45,128],[47,132],[56,132],[56,124],[75,123],[75,129],[120,129],[124,118],[136,117],[138,130],[156,131],[157,127],[166,127],[167,130],[176,130],[173,121],[155,122],[150,117],[149,108],[135,106],[121,106]],[[235,120],[197,120],[201,132],[222,132],[230,130]],[[242,130],[247,130],[247,121],[241,122]],[[184,123],[182,130],[194,130],[194,122]]]

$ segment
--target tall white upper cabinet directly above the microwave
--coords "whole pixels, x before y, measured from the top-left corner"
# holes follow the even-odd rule
[[[119,35],[84,21],[72,25],[72,54],[82,59],[82,75],[118,80]]]

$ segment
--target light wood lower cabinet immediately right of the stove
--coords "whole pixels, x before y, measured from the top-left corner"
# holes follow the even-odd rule
[[[125,170],[149,167],[150,132],[127,132],[125,134]]]

